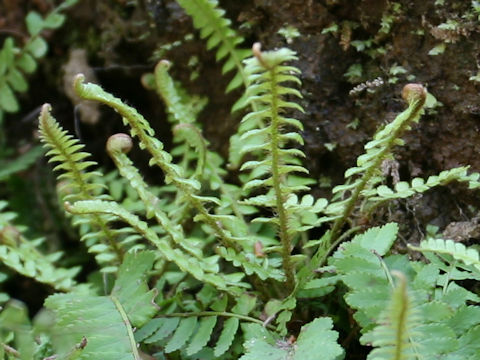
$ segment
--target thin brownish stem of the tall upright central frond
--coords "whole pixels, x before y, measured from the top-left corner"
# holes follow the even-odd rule
[[[261,54],[256,54],[257,58],[261,62]],[[271,154],[272,154],[272,180],[273,180],[273,189],[275,191],[275,201],[276,201],[276,211],[278,213],[279,228],[280,228],[280,241],[282,243],[282,265],[283,270],[285,271],[285,276],[287,278],[287,290],[292,291],[295,288],[295,272],[292,261],[290,259],[290,254],[292,251],[292,242],[290,239],[290,234],[288,233],[288,217],[287,212],[284,207],[285,196],[282,192],[282,180],[279,167],[281,165],[281,157],[279,154],[280,148],[280,139],[279,139],[279,107],[278,107],[278,92],[276,73],[274,69],[269,69],[270,74],[270,91],[272,94],[271,102],[271,132],[270,132],[270,144],[271,144]]]

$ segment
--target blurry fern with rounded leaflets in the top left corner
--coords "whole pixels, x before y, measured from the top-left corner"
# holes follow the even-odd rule
[[[30,11],[25,22],[29,34],[23,48],[15,46],[15,41],[7,37],[0,50],[0,124],[4,112],[13,113],[19,110],[15,92],[23,93],[28,90],[26,74],[37,69],[38,59],[48,51],[47,42],[41,37],[41,32],[47,29],[58,29],[65,22],[65,15],[61,11],[75,5],[78,0],[66,0],[45,19],[35,11]]]

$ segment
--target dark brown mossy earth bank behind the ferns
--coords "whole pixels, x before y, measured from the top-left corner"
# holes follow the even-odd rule
[[[427,110],[405,135],[406,145],[396,150],[400,180],[463,165],[480,171],[480,76],[475,78],[480,13],[471,1],[220,0],[220,6],[245,38],[245,48],[260,41],[263,49],[288,46],[297,52],[294,65],[302,71],[301,104],[306,110],[300,120],[305,126],[306,166],[313,178],[343,183],[344,171],[355,164],[365,142],[405,108],[400,93],[408,82],[428,87],[437,106]],[[0,28],[22,32],[19,19],[28,10],[49,9],[46,0],[5,0]],[[282,36],[279,30],[287,26],[299,36]],[[46,37],[49,54],[30,78],[29,92],[21,96],[22,111],[6,118],[7,134],[21,134],[23,143],[35,141],[32,112],[44,102],[51,103],[62,125],[74,131],[73,104],[65,95],[61,68],[70,51],[80,48],[86,50],[100,84],[150,119],[167,146],[170,130],[163,105],[142,87],[140,78],[156,61],[171,61],[177,80],[191,93],[208,96],[201,114],[204,133],[215,150],[227,154],[228,139],[241,119],[230,108],[241,92],[225,94],[231,75],[221,75],[222,64],[205,49],[175,1],[84,0],[68,12],[61,30]],[[346,75],[355,69],[352,65],[357,70],[361,66],[361,73]],[[109,135],[122,131],[118,120],[101,108],[98,122],[80,124],[80,133],[77,127],[87,150],[106,167],[112,165],[104,144]],[[9,137],[9,144],[19,149],[18,136]],[[145,163],[142,170],[149,179],[161,176],[147,167],[141,154],[135,156]],[[318,186],[315,195],[328,197],[329,191]],[[417,242],[428,224],[440,231],[458,222],[476,225],[479,205],[477,193],[451,184],[395,202],[372,221],[398,221],[404,241]],[[472,234],[463,241],[475,242],[478,232]]]

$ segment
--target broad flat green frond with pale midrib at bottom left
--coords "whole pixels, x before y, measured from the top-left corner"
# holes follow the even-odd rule
[[[77,291],[47,298],[45,306],[56,315],[51,336],[60,358],[75,352],[80,359],[141,359],[133,327],[157,312],[155,292],[146,285],[154,258],[152,252],[127,254],[109,296]]]

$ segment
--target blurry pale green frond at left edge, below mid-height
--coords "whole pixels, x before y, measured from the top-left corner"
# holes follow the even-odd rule
[[[52,286],[60,291],[70,291],[75,285],[79,267],[69,269],[57,267],[55,261],[61,253],[44,255],[38,247],[44,239],[28,240],[22,230],[11,221],[16,214],[6,212],[7,203],[0,201],[0,260],[19,274]]]

